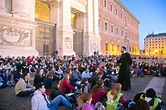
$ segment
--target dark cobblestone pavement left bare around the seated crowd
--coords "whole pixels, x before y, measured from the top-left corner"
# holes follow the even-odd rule
[[[144,91],[146,86],[152,80],[152,76],[134,77],[131,79],[132,89],[129,91],[122,91],[127,99],[133,99],[133,96]],[[160,82],[159,82],[160,83]],[[30,110],[30,99],[32,96],[26,98],[16,97],[14,94],[14,87],[8,87],[0,89],[0,110]],[[163,101],[166,103],[166,80],[161,93]],[[58,110],[67,109],[64,106],[60,106]]]

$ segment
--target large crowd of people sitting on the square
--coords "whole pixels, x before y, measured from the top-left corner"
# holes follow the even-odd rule
[[[129,79],[134,75],[166,76],[166,64],[137,63],[134,59],[132,63],[129,57],[124,63],[124,56],[0,56],[0,88],[15,86],[18,97],[33,94],[32,110],[56,110],[61,104],[78,110],[160,110],[163,102],[153,88],[137,100],[127,100],[121,90],[131,88]],[[126,67],[129,75],[124,76]]]

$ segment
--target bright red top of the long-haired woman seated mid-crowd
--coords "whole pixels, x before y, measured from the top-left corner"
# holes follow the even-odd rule
[[[75,90],[75,87],[72,86],[67,80],[62,81],[60,88],[63,93],[66,93],[67,89]]]

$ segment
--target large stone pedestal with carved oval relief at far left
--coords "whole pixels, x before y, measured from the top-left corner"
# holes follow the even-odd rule
[[[39,55],[35,50],[35,21],[0,15],[0,26],[2,56]]]

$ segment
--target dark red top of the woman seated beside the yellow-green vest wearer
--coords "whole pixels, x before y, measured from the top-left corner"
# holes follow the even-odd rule
[[[107,95],[107,90],[104,90],[103,88],[99,88],[98,90],[97,90],[97,92],[92,92],[92,104],[93,105],[95,105],[99,100],[100,100],[100,98],[101,97],[103,97],[103,96],[106,96]]]

